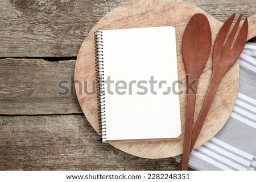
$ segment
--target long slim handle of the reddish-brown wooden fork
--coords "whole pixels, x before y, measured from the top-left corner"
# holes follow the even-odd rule
[[[199,113],[195,127],[192,132],[189,154],[193,150],[196,140],[199,137],[200,131],[204,125],[205,118],[207,117],[207,114],[210,110],[210,105],[212,105],[212,101],[214,99],[214,95],[217,91],[218,85],[220,84],[221,78],[222,78],[222,75],[213,73],[212,78],[210,79],[210,84],[209,84],[208,91],[207,91],[207,94],[204,99],[203,106],[201,108],[201,111]],[[187,160],[187,158],[185,158],[185,160]],[[183,158],[182,158],[180,161],[179,167],[177,167],[177,170],[182,170],[183,163],[184,162],[183,162]]]

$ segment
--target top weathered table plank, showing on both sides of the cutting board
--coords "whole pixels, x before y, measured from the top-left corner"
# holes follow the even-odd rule
[[[77,56],[90,28],[129,0],[0,1],[0,57]],[[233,12],[256,12],[254,0],[186,0],[222,22]]]

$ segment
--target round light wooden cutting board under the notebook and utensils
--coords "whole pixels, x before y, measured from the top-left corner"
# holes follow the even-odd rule
[[[177,64],[179,80],[186,83],[186,73],[181,54],[181,40],[185,26],[193,14],[205,14],[212,28],[212,39],[217,35],[222,23],[214,19],[207,12],[183,1],[170,0],[134,0],[118,7],[105,15],[89,32],[81,45],[75,66],[75,80],[82,83],[82,87],[75,84],[76,94],[82,111],[86,118],[98,133],[98,112],[96,95],[87,95],[84,90],[92,91],[93,82],[96,79],[94,35],[98,29],[118,29],[118,28],[139,28],[173,26],[176,29],[177,44]],[[227,17],[228,18],[228,17]],[[248,40],[256,35],[256,15],[249,18]],[[161,46],[161,45],[159,45]],[[212,73],[212,56],[209,57],[207,65],[200,77],[195,118],[197,118],[201,105],[203,104],[205,93],[207,92],[210,76]],[[87,81],[87,84],[86,82]],[[218,87],[216,96],[210,108],[207,120],[201,131],[195,147],[203,145],[213,137],[228,120],[230,113],[236,103],[239,83],[239,62],[234,64]],[[185,84],[179,87],[185,93]],[[116,142],[110,143],[119,150],[143,158],[167,158],[179,155],[183,151],[184,123],[186,112],[186,95],[180,95],[181,124],[183,135],[180,139],[170,141],[147,141],[147,142]],[[129,115],[129,113],[127,113]],[[124,116],[125,117],[125,116]],[[105,145],[102,143],[102,145]]]

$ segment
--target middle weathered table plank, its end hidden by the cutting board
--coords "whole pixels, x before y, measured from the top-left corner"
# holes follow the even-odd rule
[[[75,60],[2,59],[0,67],[0,114],[82,113],[71,84]]]

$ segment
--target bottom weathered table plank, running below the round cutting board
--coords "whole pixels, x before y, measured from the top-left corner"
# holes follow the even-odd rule
[[[175,170],[174,158],[123,153],[82,115],[1,116],[0,170]]]

